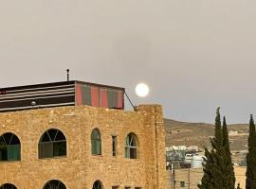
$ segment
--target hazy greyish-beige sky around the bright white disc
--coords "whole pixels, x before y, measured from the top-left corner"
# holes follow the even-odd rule
[[[69,68],[162,104],[167,118],[213,123],[220,106],[228,123],[247,123],[255,21],[255,0],[2,0],[0,87],[65,80]]]

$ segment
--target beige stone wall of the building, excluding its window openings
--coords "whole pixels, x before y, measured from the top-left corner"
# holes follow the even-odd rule
[[[101,155],[91,154],[91,132],[101,132]],[[66,156],[39,159],[38,143],[47,129],[60,129]],[[21,161],[0,163],[0,185],[43,189],[48,180],[61,180],[67,189],[91,189],[101,180],[104,189],[166,189],[165,134],[161,106],[142,105],[135,112],[71,106],[0,113],[0,135],[12,132],[21,143]],[[137,159],[124,157],[125,138],[137,135]],[[117,136],[117,157],[112,136]]]

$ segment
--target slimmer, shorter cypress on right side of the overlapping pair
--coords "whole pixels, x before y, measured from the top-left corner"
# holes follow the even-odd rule
[[[225,157],[223,157],[223,161],[225,163],[224,172],[226,174],[224,187],[227,189],[228,188],[233,189],[235,188],[235,174],[234,174],[234,168],[233,168],[233,163],[231,159],[231,153],[230,153],[230,147],[229,147],[229,132],[228,132],[225,116],[223,117],[222,133],[223,133],[223,147],[225,152]]]

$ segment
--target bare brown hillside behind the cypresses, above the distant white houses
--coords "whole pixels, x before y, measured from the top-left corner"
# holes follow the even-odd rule
[[[187,123],[171,119],[164,120],[166,129],[166,146],[210,146],[210,137],[213,136],[214,126],[206,123]],[[238,134],[229,136],[231,150],[247,149],[248,125],[228,125],[229,130]]]

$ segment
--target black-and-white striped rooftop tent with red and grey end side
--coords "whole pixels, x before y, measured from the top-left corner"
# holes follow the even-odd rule
[[[81,106],[124,109],[124,88],[78,80],[0,89],[0,112]]]

